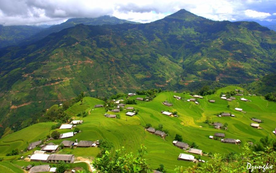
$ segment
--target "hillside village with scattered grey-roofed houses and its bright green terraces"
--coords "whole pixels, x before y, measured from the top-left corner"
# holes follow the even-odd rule
[[[115,148],[125,146],[128,151],[145,144],[152,166],[162,163],[170,172],[172,163],[186,167],[204,164],[212,153],[241,152],[246,143],[252,145],[262,136],[275,138],[275,116],[270,116],[276,115],[275,103],[235,88],[229,86],[205,96],[169,91],[153,96],[129,93],[106,102],[85,97],[65,111],[73,115],[68,123],[41,124],[43,130],[27,140],[28,146],[16,142],[21,152],[13,164],[33,173],[54,172],[61,161],[74,163],[86,158],[92,162],[98,157],[101,141],[106,139]],[[260,104],[267,105],[266,109]],[[259,109],[262,111],[257,112]],[[21,131],[0,140],[1,155],[14,149],[9,141],[21,139],[17,136]],[[3,145],[7,143],[11,144]],[[161,146],[164,152],[156,149]],[[152,154],[155,152],[158,154]],[[162,161],[163,156],[168,157],[167,162]],[[5,157],[11,159],[14,157]],[[74,167],[71,171],[75,171]]]

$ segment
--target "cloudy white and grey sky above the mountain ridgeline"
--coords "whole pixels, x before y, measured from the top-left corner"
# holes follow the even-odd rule
[[[0,24],[52,25],[102,15],[147,23],[180,9],[217,21],[276,21],[276,0],[0,0]]]

